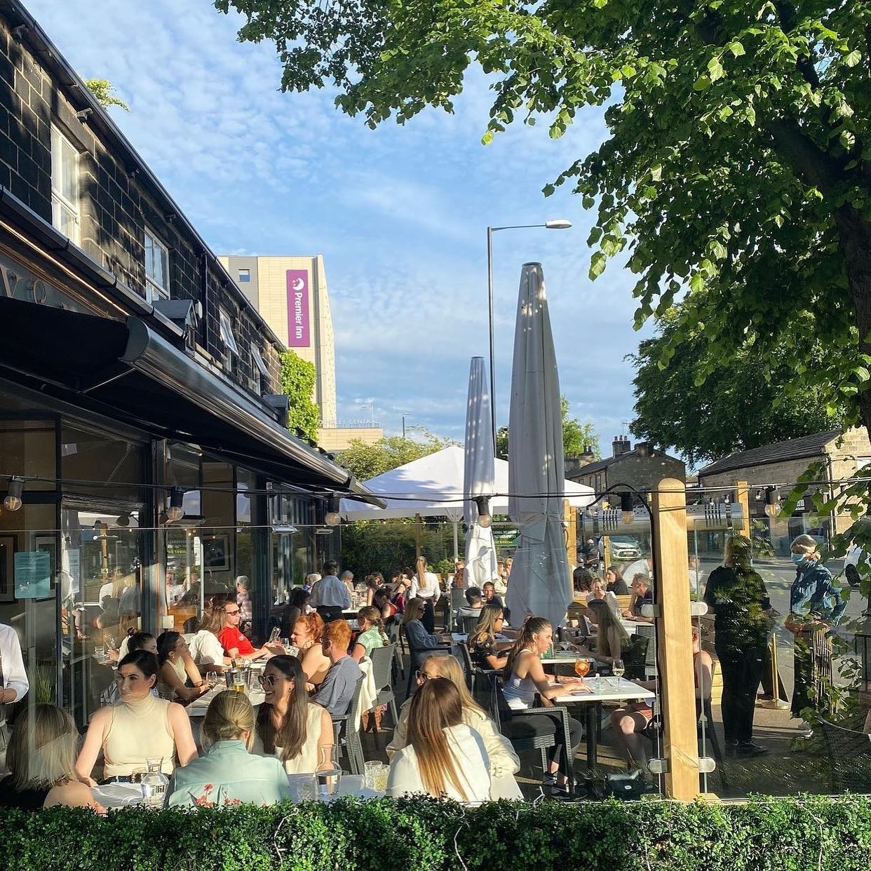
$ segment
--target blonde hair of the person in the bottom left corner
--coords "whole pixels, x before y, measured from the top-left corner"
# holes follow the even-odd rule
[[[78,730],[70,712],[57,705],[24,708],[6,751],[6,765],[17,789],[54,787],[78,780],[75,773]]]

